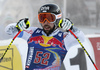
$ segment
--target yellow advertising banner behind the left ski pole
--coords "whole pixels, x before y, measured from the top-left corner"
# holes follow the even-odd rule
[[[0,46],[0,58],[8,46]],[[0,70],[22,70],[21,56],[15,45],[7,51],[3,60],[0,62]]]

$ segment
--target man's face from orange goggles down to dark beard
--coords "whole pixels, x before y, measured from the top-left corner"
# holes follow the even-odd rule
[[[44,32],[49,35],[55,30],[54,22],[56,20],[56,15],[53,13],[39,13],[39,22],[41,23]]]

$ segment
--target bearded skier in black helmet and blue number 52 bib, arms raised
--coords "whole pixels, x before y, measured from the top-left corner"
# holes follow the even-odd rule
[[[45,4],[38,11],[38,20],[42,28],[29,27],[28,19],[9,24],[6,32],[16,35],[28,43],[28,52],[25,70],[60,70],[61,63],[68,50],[78,44],[77,40],[68,31],[84,42],[84,33],[77,29],[69,19],[62,18],[62,12],[56,4]],[[64,31],[59,30],[61,27]]]

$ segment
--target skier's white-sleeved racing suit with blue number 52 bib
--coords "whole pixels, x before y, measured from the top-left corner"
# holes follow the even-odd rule
[[[82,31],[75,27],[72,31],[81,42],[84,41]],[[60,70],[70,47],[78,44],[70,32],[59,29],[47,36],[43,29],[30,27],[22,31],[18,37],[25,39],[28,44],[25,70]]]

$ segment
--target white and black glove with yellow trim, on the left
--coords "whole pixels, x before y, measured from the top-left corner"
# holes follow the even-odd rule
[[[26,30],[27,28],[29,28],[30,27],[30,22],[28,21],[28,18],[24,18],[24,19],[19,20],[16,27],[17,27],[18,30],[21,30],[21,31]]]

